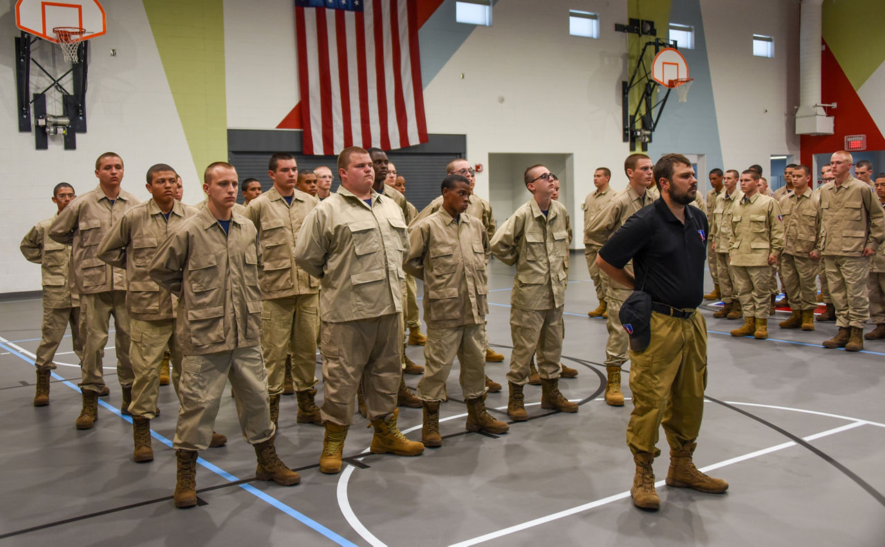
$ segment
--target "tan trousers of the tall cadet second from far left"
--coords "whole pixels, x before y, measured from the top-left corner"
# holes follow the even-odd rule
[[[108,321],[113,316],[114,347],[117,352],[117,380],[124,388],[132,387],[135,374],[129,360],[129,312],[126,291],[110,290],[80,296],[80,332],[83,336],[81,389],[104,388],[104,346],[108,343]]]

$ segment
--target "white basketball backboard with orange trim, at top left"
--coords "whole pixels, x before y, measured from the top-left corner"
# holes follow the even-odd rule
[[[89,40],[104,35],[105,19],[104,8],[97,0],[18,0],[15,3],[15,26],[55,43],[58,43],[52,31],[55,27],[84,28],[82,39]]]

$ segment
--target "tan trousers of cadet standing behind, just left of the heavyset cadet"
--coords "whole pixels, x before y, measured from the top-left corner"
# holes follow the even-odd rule
[[[289,353],[296,391],[312,389],[317,384],[318,331],[319,294],[273,298],[261,303],[261,348],[270,395],[282,393]]]

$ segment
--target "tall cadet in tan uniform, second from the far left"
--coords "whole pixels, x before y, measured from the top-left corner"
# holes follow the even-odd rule
[[[113,315],[116,328],[117,380],[123,390],[120,410],[132,399],[135,375],[129,361],[129,313],[126,309],[126,270],[105,264],[96,256],[98,243],[114,222],[141,203],[120,189],[123,160],[114,152],[96,159],[98,187],[76,198],[58,214],[50,227],[50,237],[58,243],[73,243],[71,272],[74,292],[80,295],[81,363],[83,406],[76,420],[78,429],[89,429],[98,418],[96,397],[104,389],[104,346],[108,342],[108,320]]]

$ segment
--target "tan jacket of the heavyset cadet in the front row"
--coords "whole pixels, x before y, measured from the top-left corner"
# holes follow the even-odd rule
[[[320,202],[295,244],[298,266],[319,278],[319,318],[341,323],[402,312],[408,247],[403,210],[389,197],[373,191],[370,207],[342,186]]]

